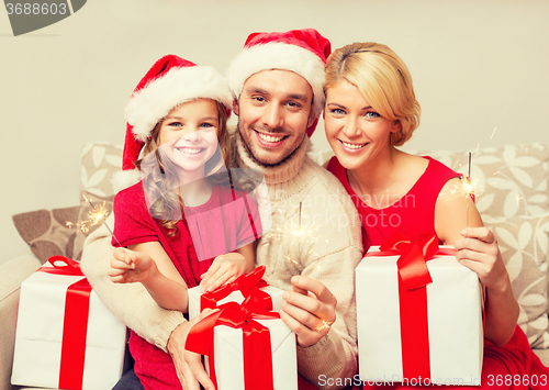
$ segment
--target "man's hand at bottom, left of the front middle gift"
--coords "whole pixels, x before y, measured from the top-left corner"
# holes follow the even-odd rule
[[[187,336],[194,324],[203,317],[214,313],[211,309],[205,309],[192,321],[183,322],[171,332],[168,341],[168,352],[173,359],[177,376],[183,390],[200,390],[200,385],[206,390],[215,390],[215,387],[204,370],[202,360],[199,354],[194,354],[184,349]]]

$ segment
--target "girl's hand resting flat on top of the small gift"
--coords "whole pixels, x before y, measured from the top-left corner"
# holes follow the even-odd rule
[[[202,274],[200,291],[213,291],[217,287],[229,283],[246,272],[246,259],[238,253],[217,256],[208,272]]]

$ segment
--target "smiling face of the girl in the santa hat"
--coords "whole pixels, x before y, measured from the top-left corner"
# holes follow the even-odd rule
[[[220,131],[217,105],[197,99],[176,107],[160,125],[158,143],[163,155],[178,166],[187,179],[204,176],[204,165],[217,149]]]

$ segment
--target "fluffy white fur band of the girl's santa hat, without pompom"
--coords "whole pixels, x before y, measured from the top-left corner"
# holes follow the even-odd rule
[[[135,138],[146,142],[158,121],[176,105],[199,98],[220,101],[228,110],[233,107],[226,79],[211,66],[173,68],[132,96],[126,120]]]

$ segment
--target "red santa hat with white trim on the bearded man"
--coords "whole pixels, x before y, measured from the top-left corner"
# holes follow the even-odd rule
[[[311,136],[324,109],[324,67],[330,52],[329,41],[314,29],[253,33],[228,69],[231,90],[239,97],[246,80],[261,70],[284,69],[296,73],[313,89],[315,121],[307,129],[307,135]]]

